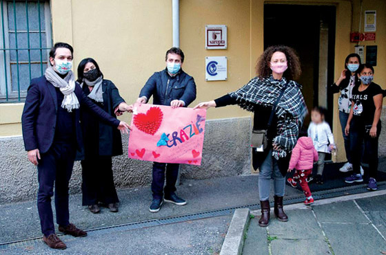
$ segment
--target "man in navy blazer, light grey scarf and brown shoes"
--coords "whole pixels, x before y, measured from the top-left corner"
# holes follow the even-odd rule
[[[66,248],[54,229],[51,208],[54,186],[59,231],[72,236],[87,235],[70,223],[68,212],[68,182],[76,151],[83,147],[79,107],[87,107],[103,122],[121,131],[127,133],[129,129],[128,124],[112,118],[92,103],[74,82],[72,53],[67,43],[56,43],[52,47],[51,66],[44,76],[31,81],[21,117],[28,159],[38,169],[37,206],[43,241],[54,249]]]

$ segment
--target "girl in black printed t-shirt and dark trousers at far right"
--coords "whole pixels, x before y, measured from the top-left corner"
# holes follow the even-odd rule
[[[382,112],[383,90],[376,85],[374,68],[363,64],[358,68],[360,82],[352,89],[352,107],[345,127],[345,134],[350,134],[350,147],[354,175],[345,178],[345,182],[362,182],[360,174],[360,147],[363,143],[365,154],[369,158],[369,184],[367,190],[377,190],[376,172],[378,170],[378,137],[380,134],[380,113]]]

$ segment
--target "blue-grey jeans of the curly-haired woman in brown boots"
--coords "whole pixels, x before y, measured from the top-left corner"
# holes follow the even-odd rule
[[[260,201],[270,199],[271,178],[274,179],[275,195],[277,197],[284,197],[285,177],[278,168],[277,160],[272,157],[272,150],[270,150],[260,166],[260,174],[258,175],[258,195],[260,196]]]

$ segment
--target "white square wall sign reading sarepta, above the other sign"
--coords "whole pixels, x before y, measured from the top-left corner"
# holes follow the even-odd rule
[[[205,49],[227,48],[227,26],[205,25]]]

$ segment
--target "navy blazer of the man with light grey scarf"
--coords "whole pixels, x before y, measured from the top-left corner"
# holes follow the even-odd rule
[[[119,126],[119,120],[112,118],[111,115],[103,111],[94,104],[90,98],[85,96],[81,87],[75,85],[75,95],[81,107],[87,107],[101,121],[110,126]],[[40,153],[46,153],[54,140],[55,128],[57,125],[57,92],[45,76],[31,80],[30,87],[24,105],[23,115],[21,116],[21,126],[23,129],[23,140],[26,151],[38,148]],[[75,113],[75,132],[77,138],[77,148],[83,149],[83,140],[80,126],[80,111],[73,110]]]

